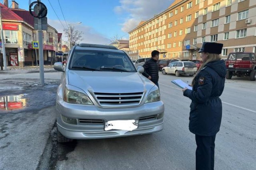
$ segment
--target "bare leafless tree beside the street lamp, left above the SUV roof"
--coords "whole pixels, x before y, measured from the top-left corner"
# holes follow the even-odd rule
[[[74,25],[69,24],[68,28],[63,29],[65,37],[68,37],[68,41],[70,43],[70,48],[74,46],[79,41],[82,41],[82,35],[84,34],[82,31],[78,31],[74,28]]]

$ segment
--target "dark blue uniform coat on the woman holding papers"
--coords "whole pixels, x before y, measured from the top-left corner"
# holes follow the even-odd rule
[[[190,132],[212,136],[220,130],[222,117],[221,96],[226,75],[224,60],[212,61],[195,77],[193,90],[183,95],[192,100],[189,115]]]

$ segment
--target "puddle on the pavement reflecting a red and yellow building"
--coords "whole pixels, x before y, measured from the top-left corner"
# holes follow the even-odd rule
[[[26,94],[13,96],[0,96],[0,109],[2,110],[17,110],[26,107]]]

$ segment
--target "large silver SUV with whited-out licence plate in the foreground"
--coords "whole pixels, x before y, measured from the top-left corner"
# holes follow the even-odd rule
[[[163,129],[164,103],[158,87],[113,46],[79,44],[68,56],[57,90],[57,139],[99,139]]]

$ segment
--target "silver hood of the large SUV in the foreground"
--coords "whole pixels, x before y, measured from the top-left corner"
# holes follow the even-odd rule
[[[76,86],[85,92],[144,92],[155,84],[138,72],[112,71],[68,71],[69,85]]]

